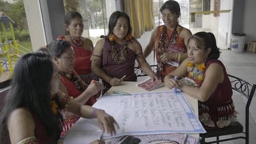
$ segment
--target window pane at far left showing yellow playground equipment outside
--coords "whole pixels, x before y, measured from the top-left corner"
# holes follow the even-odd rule
[[[9,84],[15,63],[32,51],[23,0],[0,1],[0,88]]]

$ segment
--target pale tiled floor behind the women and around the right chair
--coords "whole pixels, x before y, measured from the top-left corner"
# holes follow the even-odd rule
[[[151,32],[143,34],[142,38],[139,38],[140,44],[144,49],[147,46],[148,40],[150,40]],[[236,77],[243,78],[250,83],[256,83],[256,53],[233,53],[229,49],[221,49],[220,61],[224,63],[228,74],[235,75]],[[148,63],[155,64],[153,60],[153,52],[147,57]],[[139,79],[140,80],[140,79]],[[255,95],[256,96],[256,93]],[[238,111],[237,119],[244,124],[245,119],[245,104],[244,100],[238,93],[233,94],[234,105],[236,111]],[[253,98],[250,106],[250,143],[256,143],[256,98]],[[230,135],[228,137],[232,137]],[[210,140],[210,139],[208,139]],[[223,144],[242,144],[245,143],[244,139],[233,140],[229,142],[223,142]]]

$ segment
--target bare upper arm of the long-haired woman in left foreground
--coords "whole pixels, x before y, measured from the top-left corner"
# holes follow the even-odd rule
[[[26,138],[35,140],[35,122],[32,114],[25,108],[15,109],[10,114],[7,127],[11,143],[16,144]]]

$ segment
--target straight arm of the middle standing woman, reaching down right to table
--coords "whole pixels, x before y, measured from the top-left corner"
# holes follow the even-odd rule
[[[139,41],[134,40],[132,43],[132,48],[135,51],[136,59],[139,63],[139,66],[142,68],[143,72],[151,77],[152,80],[158,79],[158,77],[154,74],[153,70],[151,69],[148,62],[145,60],[142,54],[142,46],[140,45]]]

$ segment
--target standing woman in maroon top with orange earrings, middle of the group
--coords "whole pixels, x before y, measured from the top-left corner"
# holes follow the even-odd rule
[[[140,43],[131,35],[130,18],[116,11],[109,18],[109,33],[96,43],[92,54],[92,71],[103,79],[107,87],[120,85],[124,80],[136,81],[135,59],[152,80],[157,77],[142,54]]]

